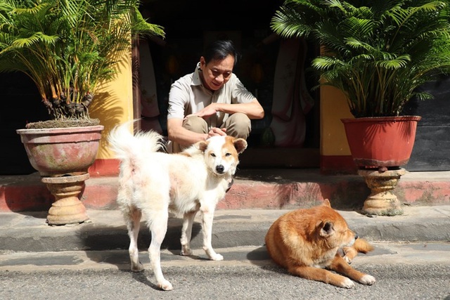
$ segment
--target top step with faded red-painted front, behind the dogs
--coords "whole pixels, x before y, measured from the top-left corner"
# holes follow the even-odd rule
[[[91,177],[81,199],[88,209],[115,209],[117,176]],[[371,193],[358,175],[323,175],[319,169],[240,169],[217,209],[293,209],[328,198],[337,209],[361,209]],[[395,195],[402,203],[450,203],[450,171],[408,172]],[[53,196],[38,173],[0,176],[0,211],[47,211]]]

